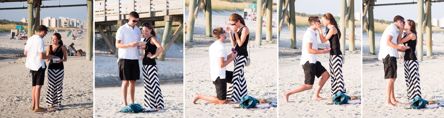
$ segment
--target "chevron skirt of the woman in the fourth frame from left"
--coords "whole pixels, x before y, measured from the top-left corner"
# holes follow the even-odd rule
[[[338,92],[345,93],[344,78],[342,78],[342,55],[330,55],[329,60],[332,96]]]

